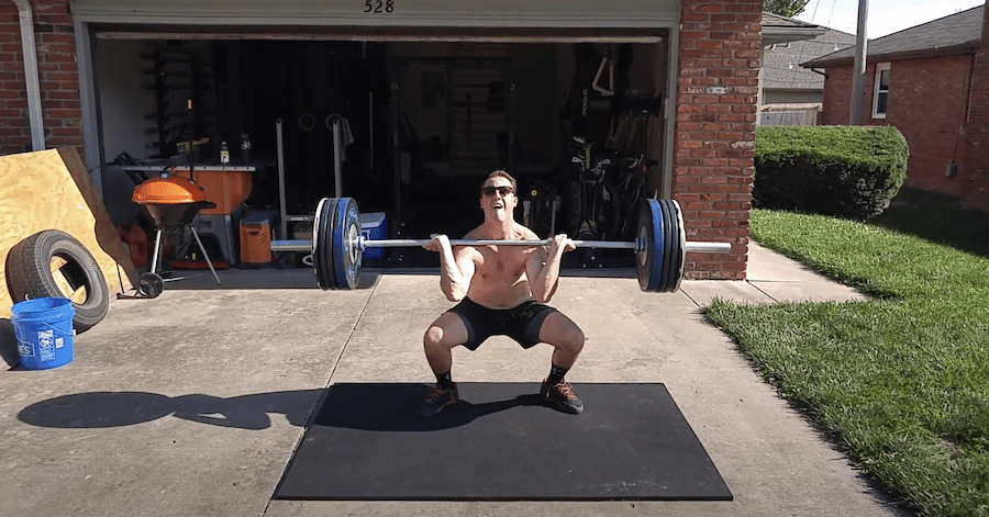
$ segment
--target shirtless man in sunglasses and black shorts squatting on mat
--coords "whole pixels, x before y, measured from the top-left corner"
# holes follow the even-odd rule
[[[485,222],[464,238],[538,240],[515,223],[515,180],[503,170],[491,172],[481,186]],[[436,375],[432,391],[415,405],[420,417],[433,416],[457,402],[451,376],[451,350],[477,350],[490,336],[509,336],[522,348],[540,342],[554,347],[549,375],[540,395],[556,409],[579,414],[584,403],[564,375],[584,348],[584,333],[568,317],[545,305],[556,292],[563,254],[575,249],[566,235],[544,246],[457,246],[445,235],[433,236],[425,249],[440,254],[440,289],[456,306],[430,325],[423,338],[425,356]]]

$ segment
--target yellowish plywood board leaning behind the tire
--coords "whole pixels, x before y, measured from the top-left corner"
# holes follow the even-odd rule
[[[96,258],[110,293],[136,282],[131,257],[75,149],[0,156],[0,318],[9,318],[13,305],[4,274],[10,248],[45,229],[78,239]]]

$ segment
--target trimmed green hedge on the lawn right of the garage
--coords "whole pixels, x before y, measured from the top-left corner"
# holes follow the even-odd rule
[[[892,126],[759,126],[753,198],[767,209],[867,220],[903,186],[908,156]]]

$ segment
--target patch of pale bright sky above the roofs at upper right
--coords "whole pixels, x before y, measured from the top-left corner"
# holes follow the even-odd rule
[[[886,36],[985,4],[985,0],[863,0],[868,2],[866,36]],[[855,34],[859,0],[810,0],[797,20]]]

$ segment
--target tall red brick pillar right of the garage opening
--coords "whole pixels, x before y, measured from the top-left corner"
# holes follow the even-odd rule
[[[688,240],[733,243],[731,255],[687,256],[687,278],[745,279],[762,9],[682,0],[673,196]]]

